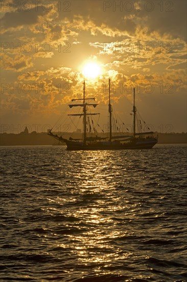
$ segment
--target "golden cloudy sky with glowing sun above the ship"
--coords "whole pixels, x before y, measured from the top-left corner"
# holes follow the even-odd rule
[[[107,107],[110,76],[124,123],[135,87],[155,131],[186,132],[186,3],[1,1],[3,131],[52,127],[69,100],[82,97],[83,77],[87,96]]]

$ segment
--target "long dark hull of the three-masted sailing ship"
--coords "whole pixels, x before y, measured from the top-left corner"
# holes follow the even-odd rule
[[[84,144],[82,142],[73,142],[64,140],[69,151],[87,151],[87,150],[127,150],[127,149],[151,149],[157,143],[156,138],[145,140],[134,139],[128,143],[120,142],[98,142]]]

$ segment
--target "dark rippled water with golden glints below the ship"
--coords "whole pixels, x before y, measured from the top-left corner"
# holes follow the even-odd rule
[[[186,146],[1,148],[1,281],[187,281]]]

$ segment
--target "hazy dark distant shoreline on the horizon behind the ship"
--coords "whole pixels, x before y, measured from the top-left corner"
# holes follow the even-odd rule
[[[72,133],[74,138],[80,138],[81,133]],[[69,138],[71,133],[60,133]],[[187,133],[157,133],[158,144],[187,144]],[[1,133],[0,146],[50,146],[59,145],[58,141],[46,133]],[[61,144],[63,145],[63,144]],[[64,144],[65,145],[65,144]]]

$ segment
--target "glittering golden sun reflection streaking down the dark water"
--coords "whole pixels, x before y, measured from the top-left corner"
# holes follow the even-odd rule
[[[127,199],[122,202],[121,196],[114,192],[118,184],[113,182],[113,177],[120,179],[121,164],[113,161],[109,151],[98,151],[97,154],[74,152],[74,157],[71,152],[65,153],[71,158],[71,162],[73,158],[79,162],[65,172],[69,197],[58,196],[56,204],[59,205],[58,212],[62,207],[64,226],[68,230],[76,229],[75,233],[66,235],[66,244],[58,246],[69,249],[69,254],[77,257],[84,265],[98,264],[100,267],[102,264],[107,268],[113,261],[127,259],[131,252],[124,252],[113,244],[114,240],[125,235],[124,230],[118,228],[113,220],[115,212],[128,210],[128,203],[127,207],[123,204]],[[67,185],[65,189],[67,190]]]

